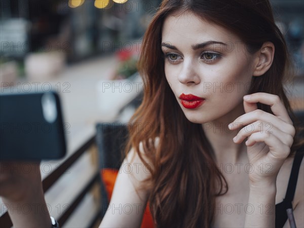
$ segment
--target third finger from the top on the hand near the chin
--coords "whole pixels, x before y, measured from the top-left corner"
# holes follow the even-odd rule
[[[272,126],[270,123],[263,123],[261,121],[256,121],[242,128],[234,138],[234,142],[239,144],[254,132],[274,134],[279,140],[289,147],[293,143],[293,137],[291,135],[281,131],[275,126]]]

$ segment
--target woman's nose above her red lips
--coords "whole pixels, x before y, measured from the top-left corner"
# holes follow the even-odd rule
[[[193,64],[191,60],[183,61],[182,69],[178,75],[178,80],[180,83],[185,85],[197,85],[201,82],[200,77],[197,73],[198,67]]]

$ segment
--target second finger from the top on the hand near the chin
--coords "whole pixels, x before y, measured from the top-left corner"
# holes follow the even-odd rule
[[[238,117],[237,119],[235,119],[234,122],[232,122],[229,125],[229,129],[241,130],[241,127],[254,123],[255,121],[261,121],[264,123],[268,123],[272,126],[275,126],[281,131],[291,135],[292,137],[295,134],[295,128],[293,125],[288,124],[282,121],[281,119],[279,119],[278,117],[272,115],[271,113],[268,113],[261,109],[256,109],[254,111],[245,113],[242,116]]]

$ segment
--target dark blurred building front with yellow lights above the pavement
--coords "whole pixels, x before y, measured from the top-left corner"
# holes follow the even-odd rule
[[[3,0],[1,56],[22,59],[30,52],[61,50],[75,62],[119,50],[122,42],[143,35],[160,2]]]

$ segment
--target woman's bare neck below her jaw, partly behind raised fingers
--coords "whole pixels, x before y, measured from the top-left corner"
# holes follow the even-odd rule
[[[208,138],[214,150],[217,163],[238,163],[247,156],[247,146],[244,140],[240,144],[236,144],[233,138],[241,130],[231,131],[228,125],[237,117],[245,113],[242,105],[239,105],[229,114],[216,119],[212,122],[202,124],[205,135]]]

